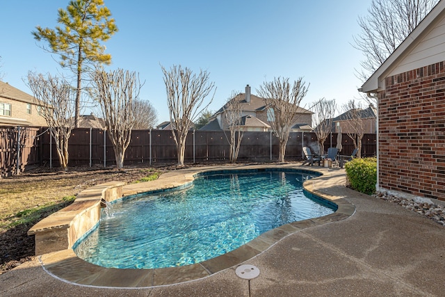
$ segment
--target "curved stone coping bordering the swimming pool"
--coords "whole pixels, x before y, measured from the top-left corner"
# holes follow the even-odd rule
[[[339,170],[339,168],[318,167],[311,167],[308,169],[308,166],[301,166],[300,163],[209,166],[173,170],[161,175],[161,177],[154,182],[126,185],[123,187],[122,195],[135,195],[147,191],[162,191],[163,189],[167,190],[184,186],[193,182],[194,176],[200,172],[263,168],[289,168],[321,173],[322,175],[320,177],[314,177],[313,179],[306,181],[303,184],[303,187],[309,193],[337,204],[337,211],[320,218],[311,218],[282,225],[259,235],[256,239],[253,239],[236,250],[188,266],[154,269],[105,268],[90,264],[83,259],[80,259],[71,248],[44,254],[40,256],[40,263],[44,270],[55,278],[83,286],[143,288],[177,284],[207,278],[215,273],[237,266],[260,255],[286,236],[300,232],[308,227],[315,227],[326,223],[334,223],[339,220],[344,220],[355,213],[355,206],[353,204],[341,197],[332,196],[325,191],[325,188],[329,185],[329,182],[327,182],[328,179],[337,175],[339,172],[343,174],[343,170]]]

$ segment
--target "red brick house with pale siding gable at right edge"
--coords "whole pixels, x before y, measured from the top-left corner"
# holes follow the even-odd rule
[[[445,200],[445,1],[359,91],[378,97],[378,189]]]

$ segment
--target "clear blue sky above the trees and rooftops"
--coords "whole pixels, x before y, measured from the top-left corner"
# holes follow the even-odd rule
[[[57,56],[38,47],[35,26],[57,25],[58,8],[68,0],[3,1],[0,22],[0,72],[3,81],[31,93],[24,79],[29,70],[58,74]],[[145,81],[140,98],[152,103],[159,122],[168,120],[161,66],[189,67],[210,73],[217,87],[209,106],[216,111],[232,91],[252,94],[274,77],[303,77],[310,83],[302,102],[321,97],[345,104],[359,97],[355,77],[362,53],[354,49],[357,17],[371,0],[105,0],[119,32],[105,43],[113,56],[109,69],[138,72]],[[40,43],[42,44],[42,43]],[[89,113],[90,111],[83,111]]]

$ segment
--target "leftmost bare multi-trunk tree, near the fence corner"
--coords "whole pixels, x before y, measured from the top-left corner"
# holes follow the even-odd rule
[[[62,170],[68,170],[68,141],[74,128],[75,92],[64,79],[48,74],[28,72],[28,86],[38,106],[38,113],[47,122],[49,133],[56,142]]]

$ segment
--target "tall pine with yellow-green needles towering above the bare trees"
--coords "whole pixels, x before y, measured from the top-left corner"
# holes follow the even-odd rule
[[[37,26],[35,40],[46,40],[49,49],[60,56],[60,66],[68,67],[76,75],[75,125],[79,127],[81,109],[82,74],[90,72],[91,65],[110,64],[111,55],[105,54],[100,42],[118,31],[104,0],[72,0],[67,10],[59,8],[56,29]]]

